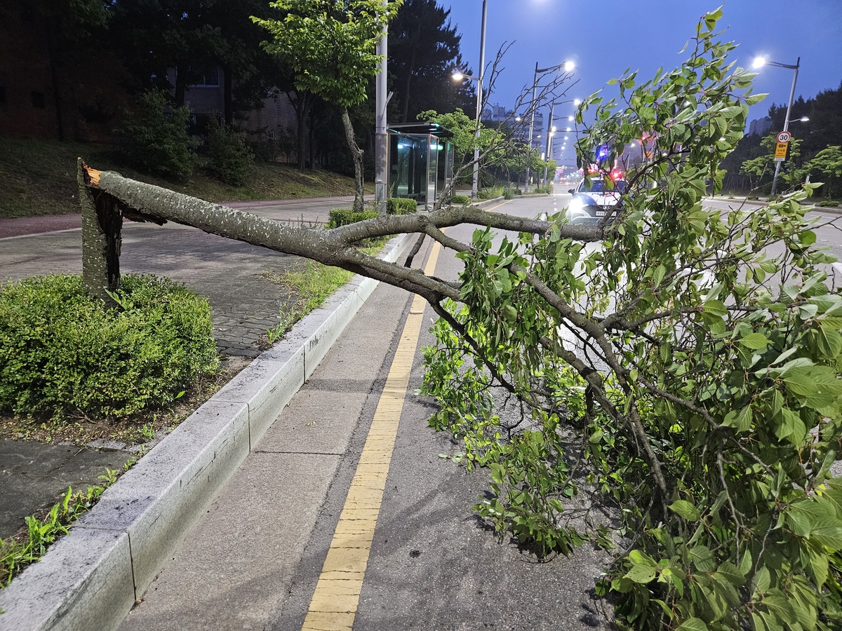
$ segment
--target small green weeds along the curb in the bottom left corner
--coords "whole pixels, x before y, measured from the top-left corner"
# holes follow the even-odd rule
[[[70,486],[46,517],[39,519],[35,515],[26,517],[24,538],[0,539],[0,586],[8,587],[12,579],[19,575],[27,565],[35,563],[44,556],[47,548],[61,535],[67,534],[72,522],[93,506],[103,491],[117,480],[117,472],[105,469],[99,476],[102,485],[88,486],[85,492],[73,493]]]

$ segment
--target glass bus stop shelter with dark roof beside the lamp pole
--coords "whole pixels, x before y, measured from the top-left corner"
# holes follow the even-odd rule
[[[453,134],[429,122],[390,125],[389,193],[432,210],[453,178]]]

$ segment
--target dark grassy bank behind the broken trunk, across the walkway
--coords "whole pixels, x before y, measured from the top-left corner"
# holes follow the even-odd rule
[[[119,147],[0,136],[0,219],[78,212],[78,156],[100,171],[119,171],[127,178],[210,202],[354,194],[353,178],[329,171],[298,171],[278,162],[258,162],[248,186],[223,184],[203,170],[186,182],[173,182],[130,167]],[[369,188],[373,190],[369,185],[366,192]]]

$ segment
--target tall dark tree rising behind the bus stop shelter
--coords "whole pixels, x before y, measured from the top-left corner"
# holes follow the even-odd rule
[[[437,0],[407,0],[389,25],[389,72],[401,120],[424,109],[466,109],[473,87],[450,79],[457,68],[466,72],[459,50],[461,36],[450,25],[450,9]]]

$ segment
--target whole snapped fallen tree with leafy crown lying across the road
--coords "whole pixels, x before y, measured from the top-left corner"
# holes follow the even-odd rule
[[[619,102],[594,95],[578,109],[579,125],[594,119],[580,162],[606,186],[627,143],[645,157],[596,225],[450,207],[302,229],[80,162],[86,286],[107,300],[119,282],[125,217],[420,294],[440,315],[425,352],[431,424],[461,441],[469,467],[488,468],[476,509],[498,533],[543,554],[586,540],[613,550],[597,591],[616,592],[627,628],[839,628],[842,479],[829,469],[842,441],[842,296],[804,216],[813,185],[766,208],[702,203],[762,98],[728,64],[720,16],[703,16],[679,68],[640,85],[626,73],[612,82]],[[457,224],[478,226],[471,243],[443,231]],[[493,231],[517,236],[493,252]],[[457,252],[459,281],[354,247],[407,232]],[[568,505],[577,495],[584,508]],[[615,521],[597,519],[600,507]]]

